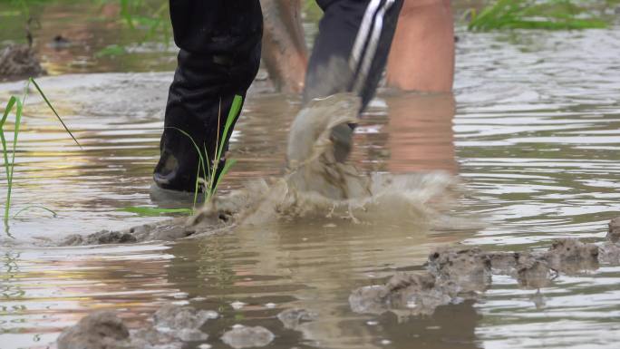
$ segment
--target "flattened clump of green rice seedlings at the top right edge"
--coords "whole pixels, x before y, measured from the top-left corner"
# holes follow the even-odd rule
[[[570,30],[605,28],[608,23],[570,0],[498,0],[480,13],[471,10],[471,31],[499,29]]]

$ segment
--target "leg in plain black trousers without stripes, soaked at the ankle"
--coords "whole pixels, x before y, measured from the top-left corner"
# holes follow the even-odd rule
[[[199,154],[181,131],[213,160],[233,98],[245,98],[257,74],[262,14],[258,0],[170,0],[170,17],[180,52],[153,179],[193,191]]]

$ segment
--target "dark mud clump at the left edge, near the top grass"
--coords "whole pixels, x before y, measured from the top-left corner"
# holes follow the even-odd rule
[[[0,50],[0,80],[39,76],[45,71],[27,45],[9,45]]]

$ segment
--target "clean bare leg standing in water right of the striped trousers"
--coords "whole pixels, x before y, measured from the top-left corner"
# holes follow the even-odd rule
[[[453,80],[450,1],[405,1],[388,61],[388,86],[403,91],[450,92]]]

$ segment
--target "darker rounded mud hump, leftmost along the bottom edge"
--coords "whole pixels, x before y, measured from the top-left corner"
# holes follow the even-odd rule
[[[58,349],[131,348],[130,332],[113,312],[95,312],[58,337]]]

